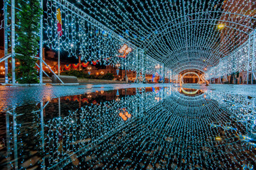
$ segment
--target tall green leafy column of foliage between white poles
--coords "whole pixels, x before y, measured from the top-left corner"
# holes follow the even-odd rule
[[[22,10],[18,11],[18,27],[16,30],[17,43],[16,59],[19,64],[16,67],[16,80],[20,84],[38,83],[38,71],[36,70],[36,60],[31,56],[38,54],[38,41],[40,40],[40,21],[43,11],[39,0],[21,1],[18,0]]]

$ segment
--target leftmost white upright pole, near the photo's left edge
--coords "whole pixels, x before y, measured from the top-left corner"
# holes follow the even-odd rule
[[[8,12],[7,12],[7,0],[4,0],[4,56],[8,55]],[[8,59],[4,61],[5,83],[8,84]]]

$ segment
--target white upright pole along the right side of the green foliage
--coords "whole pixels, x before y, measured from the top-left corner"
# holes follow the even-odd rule
[[[40,1],[40,6],[43,11],[43,0]],[[39,45],[39,83],[43,84],[43,13],[40,18],[40,45]]]

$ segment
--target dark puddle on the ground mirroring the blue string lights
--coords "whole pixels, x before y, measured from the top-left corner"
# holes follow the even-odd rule
[[[146,87],[14,106],[1,169],[254,169],[255,98]]]

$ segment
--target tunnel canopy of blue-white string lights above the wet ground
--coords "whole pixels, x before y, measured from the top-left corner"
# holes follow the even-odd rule
[[[238,3],[242,5],[234,5]],[[227,79],[235,72],[247,72],[247,82],[249,74],[255,79],[254,1],[43,0],[41,5],[41,49],[68,52],[84,62],[118,64],[120,69],[136,71],[136,82],[144,82],[145,74],[173,81],[187,69],[205,72],[208,80]],[[20,10],[18,4],[6,1],[5,8],[7,23],[15,23],[8,11]],[[11,32],[6,35],[10,48],[18,44],[16,38],[8,42],[15,35],[15,26],[4,27]],[[129,52],[120,51],[124,46]],[[12,48],[12,58],[14,55]]]

